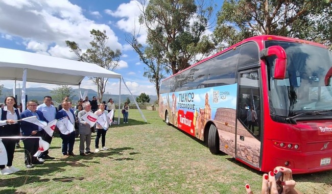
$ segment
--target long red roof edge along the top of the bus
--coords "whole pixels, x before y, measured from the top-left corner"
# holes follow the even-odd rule
[[[220,52],[218,52],[218,53],[216,53],[216,54],[214,54],[214,55],[212,55],[212,56],[210,56],[210,57],[207,57],[207,58],[205,58],[205,59],[203,59],[203,60],[200,60],[200,61],[198,61],[197,63],[195,63],[195,64],[193,64],[193,65],[191,65],[191,66],[189,66],[189,67],[187,67],[187,68],[185,68],[185,69],[180,70],[180,71],[177,72],[176,74],[174,74],[174,75],[172,75],[172,76],[170,76],[170,77],[168,77],[168,78],[166,78],[166,79],[164,79],[164,80],[168,80],[168,79],[172,78],[173,76],[176,76],[176,75],[180,74],[182,71],[185,71],[185,70],[190,69],[190,68],[192,68],[192,67],[194,67],[194,66],[196,66],[196,65],[199,65],[199,64],[203,63],[204,61],[207,61],[207,60],[209,60],[209,59],[211,59],[211,58],[214,58],[214,57],[216,57],[216,56],[218,56],[218,55],[220,55],[220,54],[222,54],[222,53],[225,53],[225,52],[227,52],[227,51],[229,51],[229,50],[235,48],[236,46],[239,46],[239,45],[241,45],[241,44],[243,44],[243,43],[245,43],[245,42],[249,42],[249,41],[260,42],[260,41],[266,41],[266,40],[280,40],[280,41],[287,41],[287,42],[298,42],[298,43],[305,43],[305,44],[310,44],[310,45],[314,45],[314,46],[319,46],[319,47],[322,47],[322,48],[327,48],[327,47],[324,46],[323,44],[316,43],[316,42],[311,42],[311,41],[307,41],[307,40],[302,40],[302,39],[298,39],[298,38],[289,38],[289,37],[275,36],[275,35],[260,35],[260,36],[253,36],[253,37],[250,37],[250,38],[244,39],[244,40],[242,40],[241,42],[238,42],[238,43],[236,43],[236,44],[233,44],[233,45],[229,46],[228,48],[226,48],[225,50],[220,51]],[[164,81],[164,80],[163,80],[163,81]]]

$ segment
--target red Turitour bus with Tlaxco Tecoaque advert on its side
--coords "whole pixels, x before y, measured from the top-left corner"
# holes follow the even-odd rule
[[[163,80],[159,115],[259,171],[330,170],[331,66],[324,45],[248,38]]]

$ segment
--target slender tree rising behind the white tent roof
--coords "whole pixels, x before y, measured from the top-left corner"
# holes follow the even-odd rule
[[[90,34],[91,37],[93,37],[93,40],[90,41],[91,48],[88,48],[85,53],[82,53],[79,44],[74,41],[66,40],[70,52],[74,52],[79,61],[95,63],[105,69],[113,71],[119,65],[118,61],[120,61],[121,51],[118,49],[113,51],[107,46],[108,36],[105,30],[101,32],[93,29],[90,31]],[[98,99],[101,102],[108,78],[89,77],[89,79],[97,85]]]

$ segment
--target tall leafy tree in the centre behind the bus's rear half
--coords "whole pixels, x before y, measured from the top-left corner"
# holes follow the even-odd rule
[[[209,0],[198,0],[196,5],[194,0],[150,0],[146,6],[147,1],[142,0],[146,9],[141,10],[139,21],[147,29],[149,45],[149,51],[142,52],[150,60],[158,59],[154,66],[165,65],[176,74],[198,54],[209,55],[214,50],[214,44],[204,34],[211,28],[209,20],[213,15],[212,1],[206,1]]]

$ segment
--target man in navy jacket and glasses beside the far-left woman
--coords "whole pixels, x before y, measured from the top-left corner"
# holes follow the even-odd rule
[[[21,113],[21,118],[26,118],[30,116],[37,116],[38,120],[43,120],[49,123],[48,120],[43,116],[43,113],[37,110],[37,103],[34,101],[29,101],[27,103],[27,110]],[[44,130],[33,123],[21,121],[21,130],[23,136],[30,137],[42,137],[45,133]],[[23,140],[24,144],[24,154],[25,154],[25,163],[27,168],[33,167],[32,164],[42,164],[43,161],[39,161],[38,158],[33,155],[38,151],[39,148],[39,139],[38,138],[27,138]]]

